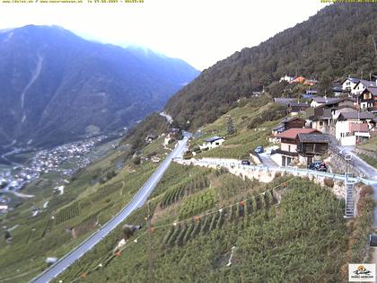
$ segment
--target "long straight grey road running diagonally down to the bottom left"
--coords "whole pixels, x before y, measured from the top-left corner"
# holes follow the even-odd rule
[[[83,243],[78,245],[72,252],[66,254],[57,263],[52,265],[48,270],[32,280],[35,283],[46,283],[57,277],[58,274],[66,270],[71,264],[80,259],[85,252],[92,249],[94,245],[100,243],[102,238],[109,234],[115,227],[117,227],[122,221],[124,221],[136,208],[140,208],[148,199],[157,183],[161,180],[163,173],[168,169],[171,164],[171,160],[174,157],[180,157],[186,150],[189,134],[185,134],[183,140],[179,141],[178,146],[168,155],[158,169],[153,172],[153,175],[145,182],[144,186],[137,191],[134,198],[127,204],[125,208],[118,212],[118,214],[111,218],[108,223],[101,227],[101,230],[92,234]]]

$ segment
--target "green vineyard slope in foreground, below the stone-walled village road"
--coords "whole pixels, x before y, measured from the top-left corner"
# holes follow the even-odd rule
[[[370,214],[373,199],[368,200],[368,208],[356,219],[353,230],[343,218],[344,201],[309,179],[283,176],[260,184],[209,170],[206,177],[211,188],[162,207],[171,184],[187,184],[186,176],[196,179],[200,175],[197,170],[174,164],[151,200],[156,282],[258,282],[260,278],[314,282],[323,280],[323,274],[329,281],[337,281],[346,279],[342,270],[347,257],[364,250],[365,227],[371,220],[365,216]],[[209,195],[215,206],[194,206]],[[180,211],[189,211],[187,217]],[[127,223],[145,226],[146,213],[146,207],[141,208]],[[123,237],[118,228],[59,279],[80,279],[84,273],[87,281],[145,282],[147,234],[145,228],[136,232],[125,250],[116,255],[114,247]],[[266,266],[271,268],[266,270]]]

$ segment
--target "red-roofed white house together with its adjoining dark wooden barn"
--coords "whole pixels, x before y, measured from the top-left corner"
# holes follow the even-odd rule
[[[276,137],[280,138],[281,145],[276,153],[281,155],[282,166],[293,162],[311,164],[328,152],[327,136],[315,128],[290,128]]]

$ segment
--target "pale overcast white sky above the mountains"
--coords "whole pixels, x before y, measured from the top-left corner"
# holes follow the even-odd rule
[[[0,29],[59,25],[88,40],[142,46],[204,70],[235,51],[256,46],[307,20],[325,5],[320,0],[144,0],[137,4],[0,1]]]

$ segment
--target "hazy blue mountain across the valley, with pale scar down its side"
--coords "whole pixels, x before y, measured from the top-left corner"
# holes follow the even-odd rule
[[[52,145],[132,125],[198,71],[56,26],[0,31],[0,146]]]

